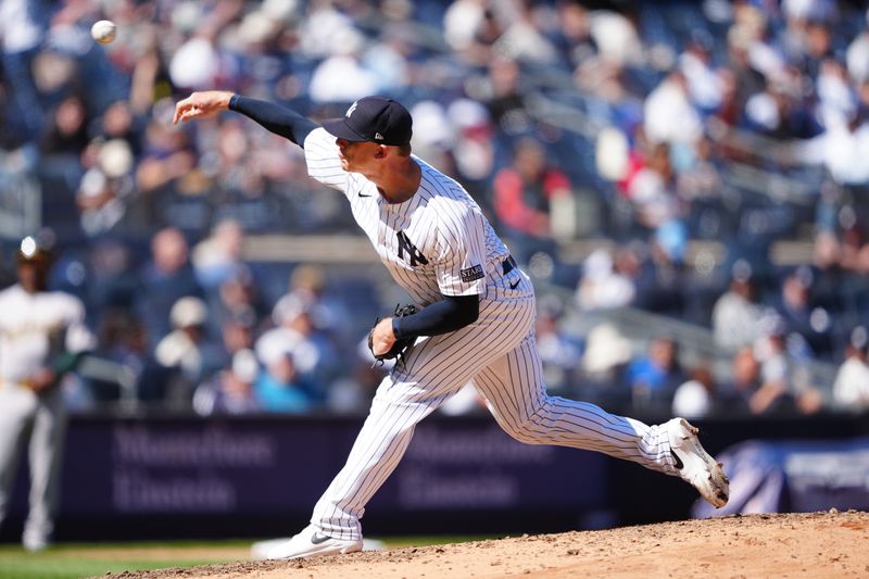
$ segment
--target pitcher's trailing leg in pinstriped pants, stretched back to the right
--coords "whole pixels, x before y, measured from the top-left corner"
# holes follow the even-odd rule
[[[533,335],[481,370],[474,383],[499,425],[521,442],[602,452],[677,474],[666,425],[648,426],[594,404],[547,395]]]

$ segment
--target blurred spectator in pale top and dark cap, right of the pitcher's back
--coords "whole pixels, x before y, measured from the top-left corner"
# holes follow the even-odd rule
[[[758,322],[765,306],[757,300],[757,280],[745,260],[736,260],[730,269],[730,286],[713,306],[715,343],[728,352],[751,345],[759,338]]]

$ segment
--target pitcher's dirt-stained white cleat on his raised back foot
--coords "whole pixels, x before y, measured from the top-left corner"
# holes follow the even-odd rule
[[[697,439],[700,429],[684,418],[667,423],[670,452],[675,467],[682,480],[689,482],[716,508],[721,508],[730,499],[730,481],[721,463],[709,456]]]

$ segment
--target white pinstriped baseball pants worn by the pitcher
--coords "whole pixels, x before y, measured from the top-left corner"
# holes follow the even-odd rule
[[[416,425],[469,380],[516,440],[603,452],[676,474],[666,428],[546,394],[533,290],[522,276],[517,291],[482,300],[475,324],[418,340],[383,378],[347,464],[314,507],[313,525],[336,539],[361,539],[365,505],[398,466]]]

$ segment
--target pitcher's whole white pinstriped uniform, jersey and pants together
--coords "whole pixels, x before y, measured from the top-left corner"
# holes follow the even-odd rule
[[[326,130],[313,130],[304,149],[311,176],[344,192],[381,261],[414,301],[480,295],[474,324],[417,339],[383,378],[347,464],[314,506],[316,532],[361,544],[365,506],[398,466],[414,427],[469,381],[517,440],[605,452],[676,473],[667,428],[546,394],[531,280],[517,267],[504,273],[507,250],[462,186],[414,158],[423,171],[419,189],[390,204],[373,182],[341,168]],[[300,533],[288,550],[310,552],[311,541]]]

